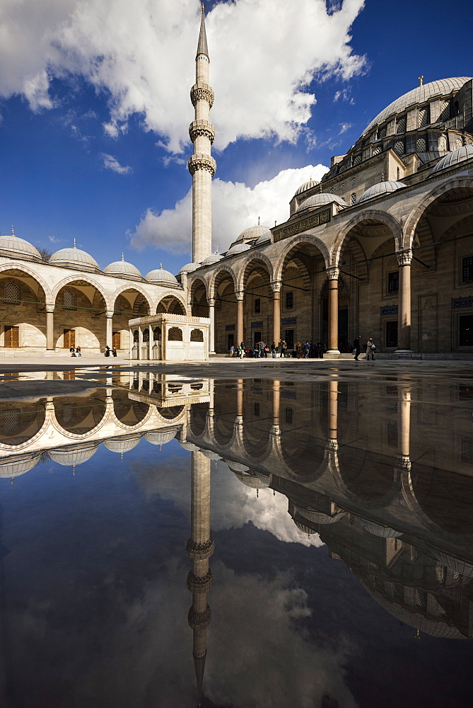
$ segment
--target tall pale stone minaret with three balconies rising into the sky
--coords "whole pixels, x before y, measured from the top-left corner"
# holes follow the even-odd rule
[[[210,154],[215,128],[209,120],[210,109],[214,104],[214,91],[209,85],[209,63],[202,3],[199,44],[195,57],[195,84],[190,90],[195,120],[189,125],[189,136],[194,143],[194,154],[187,164],[192,174],[192,263],[202,263],[212,251],[212,177],[217,165]]]

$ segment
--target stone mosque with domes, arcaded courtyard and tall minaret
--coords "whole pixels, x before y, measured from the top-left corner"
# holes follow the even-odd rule
[[[282,338],[288,348],[325,341],[337,358],[361,334],[391,355],[473,353],[473,79],[419,77],[322,181],[294,185],[286,222],[250,226],[219,254],[209,64],[202,12],[190,92],[192,263],[143,277],[123,259],[101,271],[74,246],[45,261],[13,232],[0,236],[0,350],[108,345],[135,359],[206,358]]]

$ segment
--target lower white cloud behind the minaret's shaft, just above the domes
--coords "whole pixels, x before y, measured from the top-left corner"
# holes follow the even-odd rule
[[[279,172],[271,180],[247,187],[242,182],[213,181],[212,240],[214,249],[223,252],[238,234],[254,226],[258,217],[262,224],[274,227],[289,215],[288,202],[299,185],[310,177],[320,180],[327,172],[323,165],[308,165],[300,169]],[[132,246],[143,249],[155,246],[170,253],[189,253],[192,243],[192,191],[176,202],[173,209],[159,214],[148,209],[136,226]]]

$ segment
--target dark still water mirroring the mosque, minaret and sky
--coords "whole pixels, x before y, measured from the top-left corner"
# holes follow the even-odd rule
[[[472,502],[449,377],[4,377],[2,705],[469,705]]]

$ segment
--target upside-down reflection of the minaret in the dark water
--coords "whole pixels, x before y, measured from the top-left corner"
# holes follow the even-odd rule
[[[187,621],[194,634],[192,654],[199,704],[207,653],[207,627],[211,620],[207,593],[212,584],[209,558],[213,552],[214,541],[210,535],[210,460],[202,452],[196,451],[192,452],[191,537],[187,542],[187,555],[192,559],[192,570],[187,576],[192,607]]]

